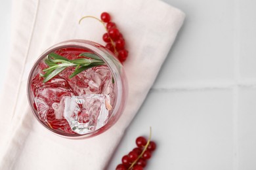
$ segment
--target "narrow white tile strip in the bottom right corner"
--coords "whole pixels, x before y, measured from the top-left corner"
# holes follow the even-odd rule
[[[238,111],[239,169],[256,169],[256,88],[240,90]]]

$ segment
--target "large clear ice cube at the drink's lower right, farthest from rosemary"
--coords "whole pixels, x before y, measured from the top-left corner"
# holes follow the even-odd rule
[[[71,129],[86,134],[104,126],[109,118],[109,97],[104,94],[85,94],[64,97],[64,118]]]

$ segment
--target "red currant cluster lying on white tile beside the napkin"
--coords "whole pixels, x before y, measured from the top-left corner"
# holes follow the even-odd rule
[[[116,170],[142,170],[146,167],[146,161],[151,158],[152,152],[156,150],[154,141],[146,141],[144,137],[137,137],[137,148],[123,156],[122,163],[117,165]]]

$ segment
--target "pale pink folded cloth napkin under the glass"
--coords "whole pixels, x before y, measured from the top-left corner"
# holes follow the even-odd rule
[[[104,169],[125,129],[154,83],[184,20],[159,0],[13,0],[10,65],[0,103],[0,169]],[[102,42],[104,28],[82,16],[108,11],[129,50],[124,63],[127,107],[108,131],[71,140],[49,133],[28,107],[26,84],[33,62],[49,46],[68,39]]]

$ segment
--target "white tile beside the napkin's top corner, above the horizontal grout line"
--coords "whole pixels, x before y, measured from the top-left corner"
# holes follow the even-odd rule
[[[184,10],[186,20],[154,87],[232,79],[234,1],[166,2]]]

